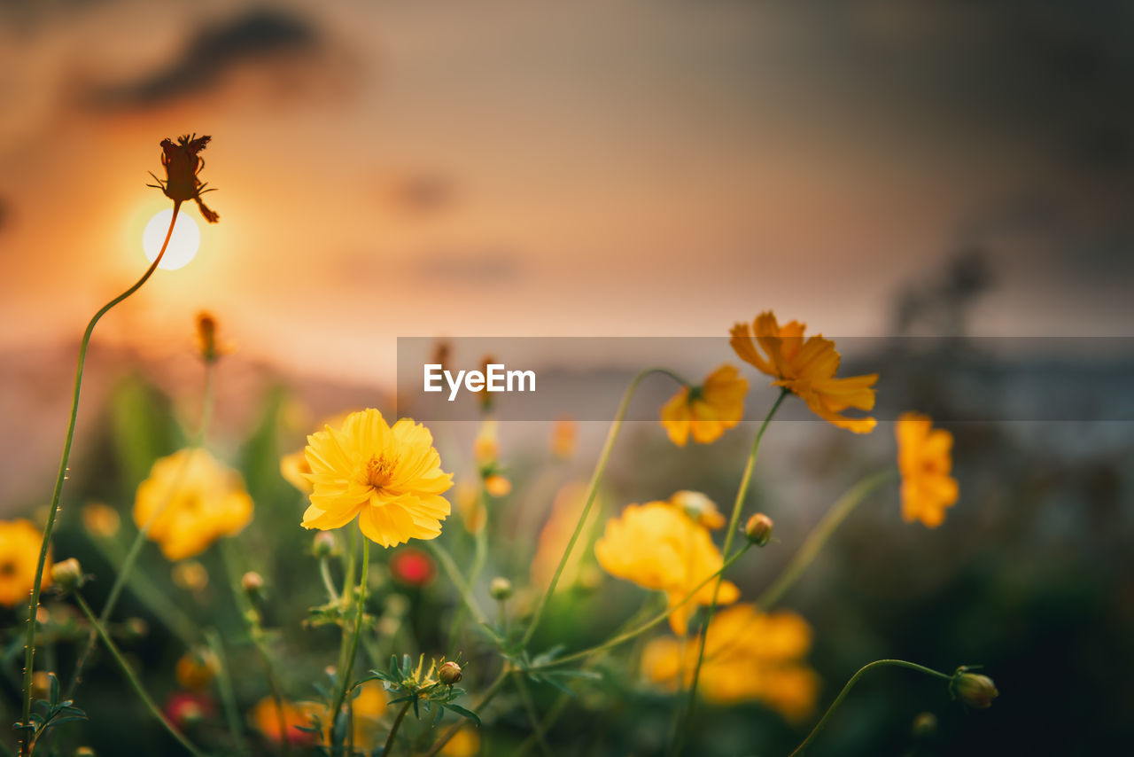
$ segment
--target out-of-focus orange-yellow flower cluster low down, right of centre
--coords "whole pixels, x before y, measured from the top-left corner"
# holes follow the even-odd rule
[[[697,664],[697,640],[683,645],[653,639],[642,655],[646,680],[675,691],[688,687]],[[762,614],[754,605],[720,611],[709,624],[697,691],[718,704],[759,700],[792,722],[815,707],[819,676],[804,662],[811,626],[790,612]]]

